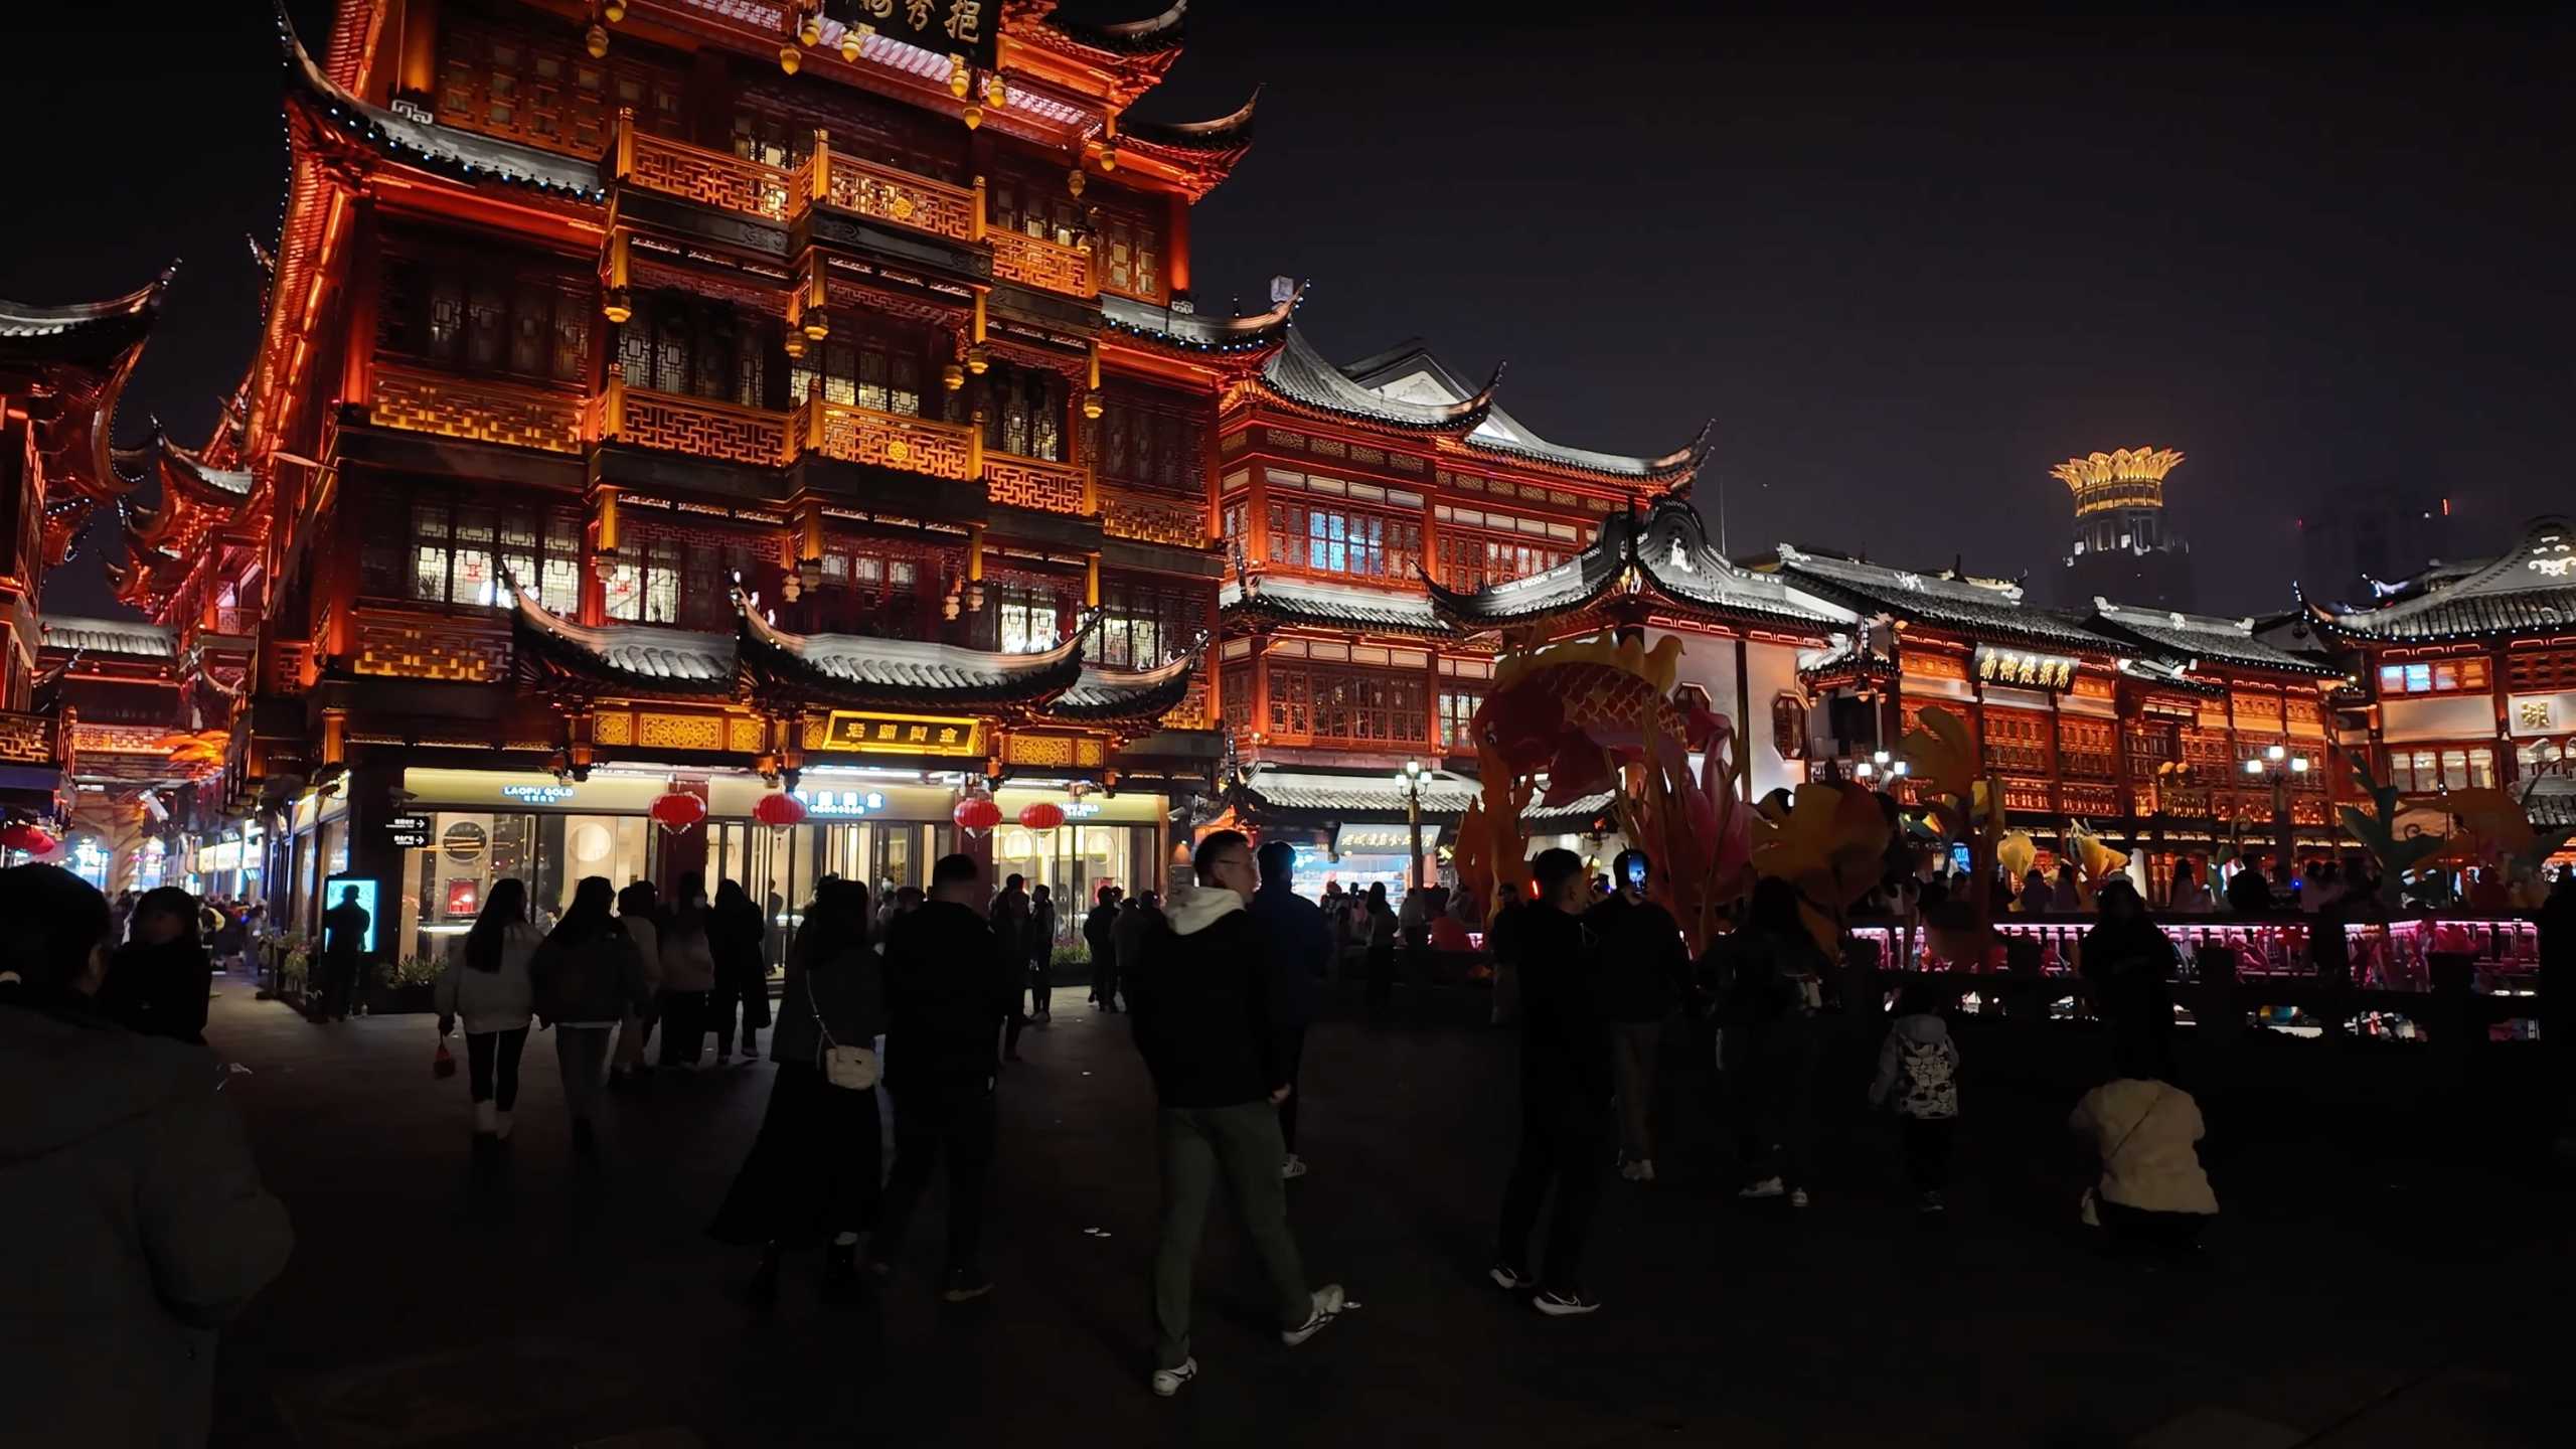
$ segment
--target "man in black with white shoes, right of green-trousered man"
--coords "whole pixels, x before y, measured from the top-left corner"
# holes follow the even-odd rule
[[[1584,864],[1574,851],[1530,861],[1538,902],[1520,913],[1520,1158],[1502,1191],[1494,1284],[1538,1287],[1538,1312],[1566,1318],[1600,1302],[1582,1289],[1584,1232],[1610,1155],[1610,1024],[1595,998],[1584,931]],[[1530,1230],[1556,1183],[1546,1276],[1530,1276]]]

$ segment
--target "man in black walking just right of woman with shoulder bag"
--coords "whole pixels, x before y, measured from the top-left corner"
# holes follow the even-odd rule
[[[1028,964],[987,926],[974,856],[930,869],[930,900],[886,926],[886,1091],[894,1096],[894,1173],[868,1243],[884,1274],[902,1250],[912,1204],[948,1155],[948,1274],[940,1297],[992,1292],[976,1263],[994,1158],[994,1036],[1018,1011]]]

